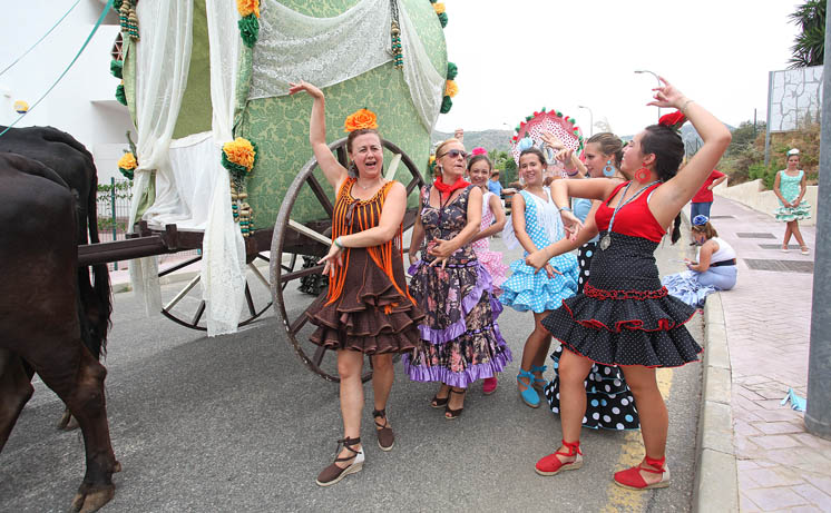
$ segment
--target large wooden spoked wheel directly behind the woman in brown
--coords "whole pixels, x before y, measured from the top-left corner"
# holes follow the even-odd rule
[[[381,144],[393,154],[392,161],[389,162],[388,170],[384,171],[384,177],[404,184],[408,198],[413,191],[418,194],[421,186],[424,185],[424,180],[416,164],[392,142],[382,140]],[[336,140],[329,148],[338,156],[341,165],[346,167],[346,139]],[[399,164],[403,164],[405,169],[402,169]],[[283,263],[296,257],[297,254],[321,258],[329,251],[332,244],[332,211],[334,209],[332,198],[334,196],[334,190],[325,181],[323,171],[317,169],[317,160],[312,158],[303,166],[286,190],[283,205],[277,214],[271,246],[271,290],[277,317],[283,319],[283,328],[289,342],[303,363],[324,379],[340,382],[334,352],[309,341],[309,335],[314,331],[314,326],[307,322],[306,312],[313,302],[316,299],[323,300],[327,289],[324,289],[317,298],[297,290],[300,278],[314,274],[320,275],[323,266],[316,265],[305,269],[286,272],[283,265]],[[326,218],[302,224],[293,220],[292,213],[301,210],[299,205],[305,207],[305,211],[309,211],[309,203],[314,204],[315,209],[322,207]],[[408,208],[404,215],[404,230],[416,223],[417,214],[418,208]],[[364,369],[361,378],[366,382],[372,378],[372,369],[369,363],[364,365]]]

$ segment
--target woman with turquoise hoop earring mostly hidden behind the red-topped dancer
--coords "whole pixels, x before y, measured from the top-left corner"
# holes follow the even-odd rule
[[[568,165],[574,162],[577,166],[584,166],[577,159],[570,159],[570,151],[561,151],[557,157]],[[623,175],[620,159],[623,159],[623,141],[619,137],[609,132],[595,134],[586,141],[586,149],[583,152],[585,157],[585,169],[581,175],[592,178],[613,178],[620,180]],[[585,221],[589,216],[594,217],[593,209],[595,201],[586,198],[576,198],[574,201],[574,215]],[[597,201],[599,205],[599,201]],[[592,258],[597,253],[597,243],[599,237],[595,236],[588,243],[579,248],[577,260],[580,265],[580,277],[577,283],[577,294],[583,294],[584,285],[590,276]],[[560,385],[559,385],[559,359],[563,354],[563,346],[557,345],[551,354],[554,361],[554,378],[545,387],[545,395],[548,399],[548,406],[551,412],[559,414],[560,411]],[[593,430],[637,430],[641,422],[637,416],[637,408],[632,398],[632,391],[626,385],[620,367],[594,364],[586,376],[586,414],[583,417],[583,425]]]

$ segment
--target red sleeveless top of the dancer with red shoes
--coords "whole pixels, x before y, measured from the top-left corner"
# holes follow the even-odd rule
[[[605,231],[608,229],[612,215],[615,211],[614,208],[609,207],[609,201],[626,186],[626,184],[628,184],[628,181],[615,187],[615,190],[609,195],[609,197],[606,198],[606,200],[597,208],[597,213],[595,213],[595,224],[597,225],[598,231]],[[661,187],[661,184],[655,184],[641,193],[641,195],[630,204],[620,207],[620,209],[617,210],[617,216],[615,216],[615,224],[612,226],[612,230],[616,234],[641,237],[652,240],[653,243],[659,243],[666,234],[666,229],[664,229],[658,220],[655,219],[655,216],[652,215],[649,205],[647,204],[649,194],[658,187]]]

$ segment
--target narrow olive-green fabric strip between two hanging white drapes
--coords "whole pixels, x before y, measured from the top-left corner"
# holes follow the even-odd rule
[[[182,98],[173,138],[211,130],[211,57],[207,38],[205,0],[194,0],[193,50],[187,72],[187,88]]]

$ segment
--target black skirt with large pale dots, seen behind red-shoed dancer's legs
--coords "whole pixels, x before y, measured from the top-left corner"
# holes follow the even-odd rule
[[[551,412],[559,415],[559,358],[563,347],[551,354],[555,376],[546,385],[545,394]],[[593,430],[639,430],[641,420],[632,391],[626,385],[620,367],[595,364],[586,377],[586,415],[583,425]]]

